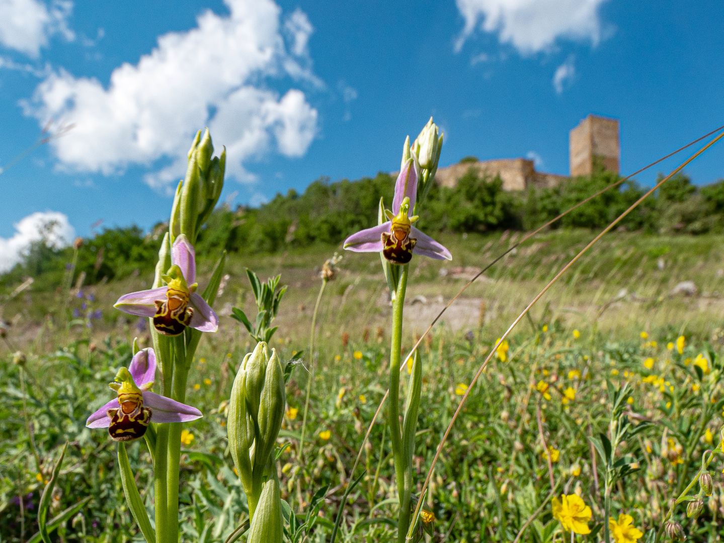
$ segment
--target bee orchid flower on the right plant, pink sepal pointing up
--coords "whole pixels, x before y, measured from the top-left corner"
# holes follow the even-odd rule
[[[412,255],[424,255],[436,260],[452,260],[452,255],[442,244],[423,234],[413,223],[418,217],[410,217],[417,197],[417,171],[413,158],[409,158],[397,176],[392,211],[384,210],[388,221],[372,228],[358,231],[345,239],[345,249],[354,252],[382,252],[393,264],[407,264]]]

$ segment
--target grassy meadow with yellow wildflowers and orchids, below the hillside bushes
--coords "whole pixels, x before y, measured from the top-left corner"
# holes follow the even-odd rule
[[[198,132],[154,268],[2,283],[0,541],[719,541],[724,241],[619,227],[721,137],[602,226],[558,228],[628,178],[460,231],[431,118],[376,220],[245,253]]]

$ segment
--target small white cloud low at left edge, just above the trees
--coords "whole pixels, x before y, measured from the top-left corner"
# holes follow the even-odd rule
[[[49,247],[66,247],[75,237],[75,229],[68,218],[57,211],[33,213],[15,224],[15,234],[9,238],[0,238],[0,273],[12,270],[22,261],[22,257],[33,241],[45,239]]]

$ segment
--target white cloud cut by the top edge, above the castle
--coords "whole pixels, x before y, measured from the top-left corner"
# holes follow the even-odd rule
[[[465,19],[455,50],[480,27],[497,33],[521,54],[550,48],[558,38],[591,40],[601,36],[598,9],[605,0],[455,0]]]

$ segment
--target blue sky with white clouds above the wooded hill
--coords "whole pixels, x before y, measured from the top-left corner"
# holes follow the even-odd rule
[[[222,199],[258,203],[319,176],[395,170],[430,115],[445,131],[442,166],[535,156],[558,174],[589,113],[620,119],[623,174],[724,124],[715,1],[135,5],[0,7],[0,166],[49,121],[50,133],[75,124],[0,174],[0,268],[46,212],[66,237],[101,219],[164,220],[204,126],[229,151]],[[715,148],[688,172],[715,181],[723,159]]]

